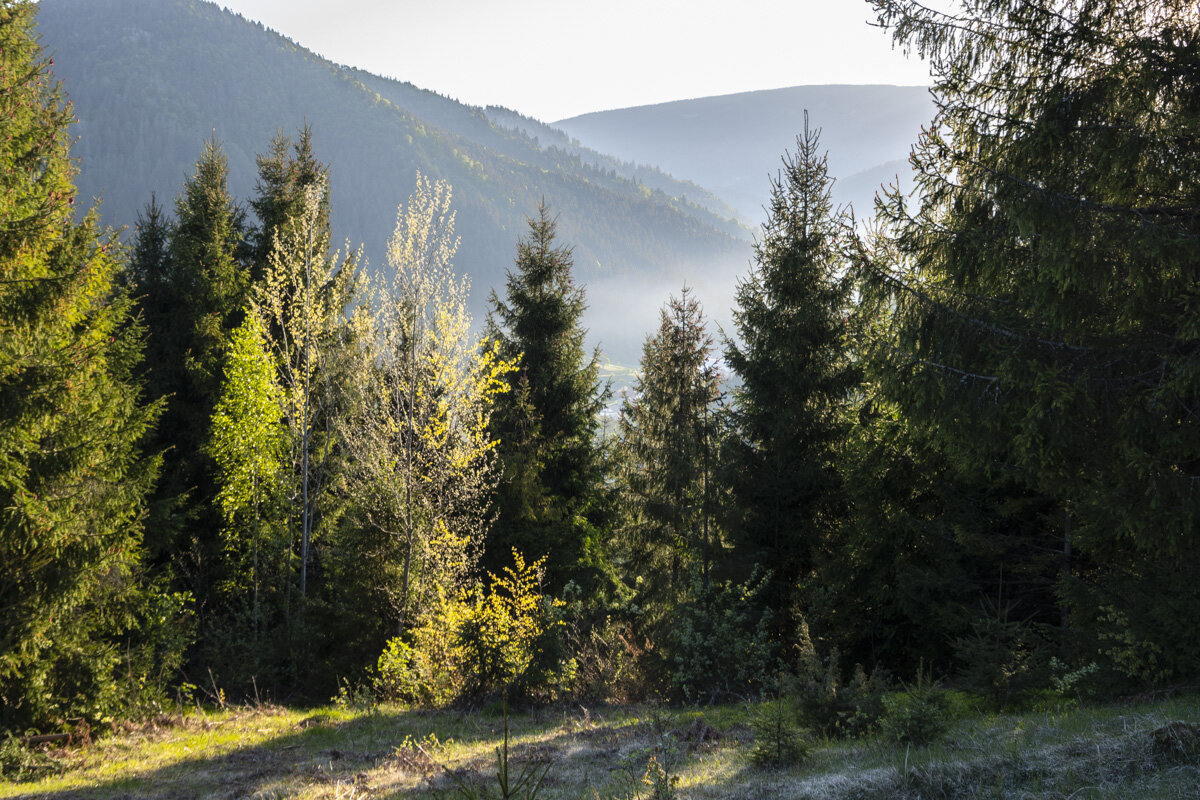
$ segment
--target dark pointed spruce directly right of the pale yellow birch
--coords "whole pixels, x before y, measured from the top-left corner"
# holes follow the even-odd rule
[[[596,440],[607,389],[599,353],[588,357],[583,348],[583,289],[571,266],[571,251],[556,246],[542,204],[517,243],[505,297],[493,293],[488,314],[500,356],[521,366],[492,416],[504,477],[485,565],[499,573],[512,548],[530,560],[547,555],[554,589],[572,578],[594,582],[605,566],[598,525],[611,513]]]

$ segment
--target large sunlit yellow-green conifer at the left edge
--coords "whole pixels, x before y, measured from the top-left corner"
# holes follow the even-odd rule
[[[122,253],[74,219],[71,110],[31,2],[0,2],[0,728],[119,709],[136,625],[144,494],[138,441],[157,407],[140,331],[115,290]]]

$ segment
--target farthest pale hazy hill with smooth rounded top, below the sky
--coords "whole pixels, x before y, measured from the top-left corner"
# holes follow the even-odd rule
[[[785,150],[821,128],[834,198],[868,216],[881,184],[908,185],[908,150],[934,116],[923,86],[793,86],[596,112],[554,122],[594,150],[695,181],[758,223]]]

